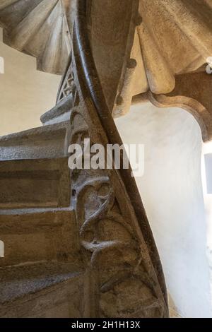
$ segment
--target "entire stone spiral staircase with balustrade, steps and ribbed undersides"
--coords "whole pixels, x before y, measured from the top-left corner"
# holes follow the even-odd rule
[[[105,1],[103,18],[100,0],[0,2],[4,42],[36,57],[38,70],[63,74],[44,126],[0,138],[0,317],[168,316],[160,259],[131,171],[68,167],[70,143],[88,137],[122,145],[111,114],[127,112],[134,95],[170,105],[161,93],[177,89],[176,74],[196,75],[205,63],[193,52],[183,69],[177,57],[170,69],[149,25],[158,1],[122,1]],[[167,6],[172,16],[178,5]],[[211,0],[204,6],[201,18]],[[207,32],[205,46],[211,30],[199,30]],[[188,37],[194,51],[201,38]],[[186,102],[167,98],[194,112],[204,139],[211,137],[211,109],[191,103],[189,93]]]

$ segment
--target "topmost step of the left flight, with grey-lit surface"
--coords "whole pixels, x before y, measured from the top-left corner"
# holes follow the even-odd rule
[[[0,160],[61,158],[69,121],[0,137]]]

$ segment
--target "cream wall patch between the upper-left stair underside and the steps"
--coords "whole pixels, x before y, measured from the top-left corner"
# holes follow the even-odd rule
[[[36,69],[36,59],[2,42],[4,74],[0,74],[0,136],[40,126],[40,115],[55,105],[61,76]]]

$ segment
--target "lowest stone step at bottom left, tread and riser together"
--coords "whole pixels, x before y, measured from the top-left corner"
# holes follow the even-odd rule
[[[82,316],[83,271],[72,263],[0,268],[1,318]]]

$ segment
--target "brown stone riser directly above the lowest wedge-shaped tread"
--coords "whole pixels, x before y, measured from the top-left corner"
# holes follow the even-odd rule
[[[4,242],[0,267],[78,260],[78,232],[73,211],[1,214],[0,240]]]

